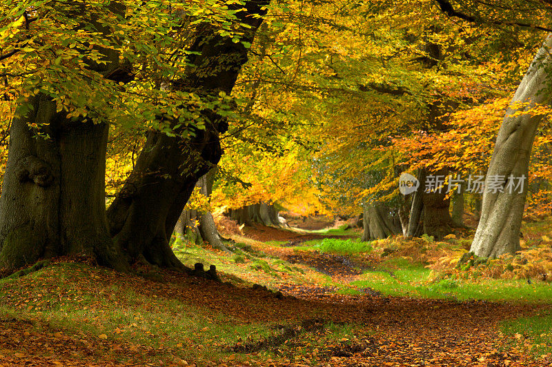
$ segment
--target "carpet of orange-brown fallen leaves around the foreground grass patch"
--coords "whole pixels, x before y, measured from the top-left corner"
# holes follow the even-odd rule
[[[284,247],[279,255],[289,259],[290,252]],[[297,261],[320,267],[331,277],[354,278],[357,270],[344,259],[313,253]],[[505,319],[549,310],[548,305],[385,297],[369,289],[365,295],[339,295],[331,286],[306,284],[282,284],[280,290],[286,296],[282,298],[268,290],[221,284],[173,272],[165,272],[163,281],[159,282],[101,268],[85,268],[75,273],[70,281],[77,295],[60,295],[56,275],[55,266],[44,271],[40,295],[30,291],[36,286],[32,277],[22,277],[17,280],[17,287],[11,286],[3,306],[21,313],[0,315],[0,367],[552,365],[549,355],[531,355],[528,351],[531,340],[526,335],[504,335],[498,327]],[[50,324],[41,313],[35,314],[39,317],[26,315],[26,310],[32,308],[29,305],[34,304],[36,309],[41,299],[75,302],[86,297],[109,297],[124,309],[134,307],[117,295],[106,296],[109,286],[130,290],[145,299],[177,301],[190,308],[221,313],[236,324],[285,323],[289,333],[274,331],[264,339],[259,340],[257,336],[251,341],[244,340],[239,346],[220,345],[217,339],[209,342],[213,344],[190,344],[186,347],[222,350],[239,347],[237,351],[246,354],[240,361],[184,361],[167,357],[175,355],[174,347],[144,346],[122,339],[117,329],[115,333],[106,332],[107,335],[92,335],[80,326],[70,329]],[[103,312],[101,308],[97,311],[99,315]],[[309,320],[315,320],[317,328],[304,326]],[[328,323],[351,326],[354,337],[314,348],[304,336],[311,334],[317,339],[318,333],[324,334]],[[148,332],[162,340],[164,330]],[[259,351],[270,351],[275,357],[263,359]]]

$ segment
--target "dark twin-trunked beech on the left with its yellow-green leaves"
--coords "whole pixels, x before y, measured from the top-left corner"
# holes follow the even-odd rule
[[[3,76],[19,108],[0,199],[0,268],[59,255],[183,268],[166,239],[221,155],[227,95],[266,4],[3,4],[11,21],[0,28],[1,57],[12,66]],[[141,124],[149,136],[108,226],[110,123]]]

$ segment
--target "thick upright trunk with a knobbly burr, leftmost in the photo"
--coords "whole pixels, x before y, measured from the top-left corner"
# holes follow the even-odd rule
[[[108,126],[66,119],[45,95],[15,118],[0,199],[0,268],[39,258],[92,256],[124,268],[106,226],[105,170]],[[37,137],[28,123],[48,123]]]

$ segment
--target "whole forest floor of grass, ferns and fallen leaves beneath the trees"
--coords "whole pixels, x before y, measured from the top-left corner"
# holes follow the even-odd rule
[[[549,247],[551,229],[524,228],[526,246]],[[469,232],[442,242],[358,235],[248,228],[232,256],[175,244],[185,264],[217,265],[220,282],[61,259],[0,279],[0,366],[552,364],[546,276],[517,279],[515,261],[509,279],[488,276],[497,265],[444,266]]]

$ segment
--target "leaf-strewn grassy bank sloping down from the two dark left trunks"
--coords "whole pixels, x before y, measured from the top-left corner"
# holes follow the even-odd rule
[[[197,280],[189,281],[195,284]],[[282,358],[308,364],[328,346],[354,339],[355,326],[351,324],[322,321],[316,330],[303,330],[300,320],[319,315],[314,308],[291,310],[293,317],[269,317],[266,309],[257,309],[267,295],[250,299],[228,290],[195,294],[190,284],[159,284],[83,264],[52,264],[21,278],[0,279],[0,319],[30,321],[36,330],[58,338],[86,337],[92,343],[107,344],[96,360],[133,364],[137,356],[128,355],[129,348],[137,351],[140,363],[155,365],[160,361],[170,365],[175,360],[198,366],[225,361],[265,365],[270,359]],[[210,286],[213,292],[220,287]],[[214,305],[213,297],[223,295],[227,299]],[[234,310],[237,305],[244,310]],[[264,307],[274,310],[283,306],[269,300]],[[254,317],[256,313],[261,315]],[[277,339],[281,328],[295,328],[297,333],[253,355],[230,348]],[[86,351],[82,353],[79,356],[75,351],[75,357],[86,358]],[[52,351],[51,357],[57,355]]]

